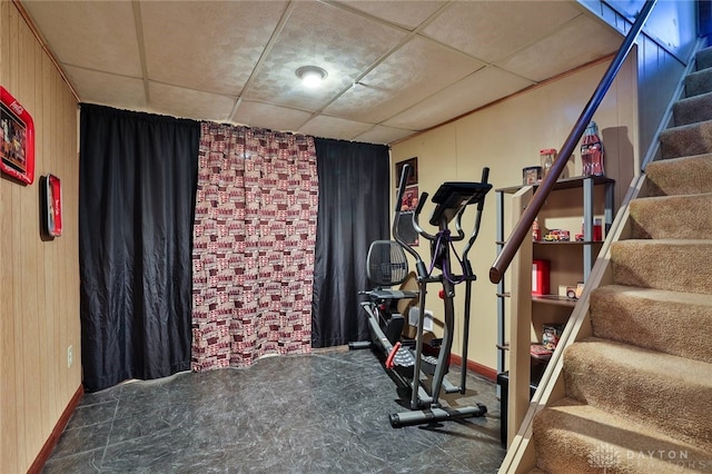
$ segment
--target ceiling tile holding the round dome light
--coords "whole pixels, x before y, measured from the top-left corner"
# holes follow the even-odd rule
[[[329,4],[295,2],[279,39],[243,98],[318,110],[405,34]],[[295,75],[307,65],[328,72],[318,90],[306,89]]]

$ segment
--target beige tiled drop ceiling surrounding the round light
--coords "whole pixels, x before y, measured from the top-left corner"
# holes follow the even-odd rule
[[[573,0],[16,3],[82,102],[378,144],[622,41]],[[328,72],[322,88],[303,66]]]

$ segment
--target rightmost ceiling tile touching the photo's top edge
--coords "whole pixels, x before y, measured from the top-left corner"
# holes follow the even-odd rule
[[[573,1],[458,1],[423,33],[492,62],[580,14],[582,10]]]

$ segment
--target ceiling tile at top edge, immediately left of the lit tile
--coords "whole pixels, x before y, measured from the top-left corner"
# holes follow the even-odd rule
[[[238,96],[285,1],[141,1],[150,80]]]

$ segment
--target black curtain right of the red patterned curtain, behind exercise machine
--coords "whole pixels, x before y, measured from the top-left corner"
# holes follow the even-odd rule
[[[388,147],[316,138],[319,178],[312,346],[369,339],[358,290],[369,287],[366,255],[388,239]]]

